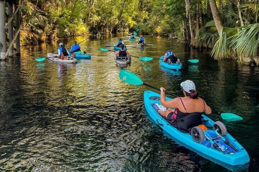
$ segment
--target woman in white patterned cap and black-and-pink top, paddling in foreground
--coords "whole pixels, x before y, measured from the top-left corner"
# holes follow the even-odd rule
[[[153,104],[152,107],[155,109],[155,111],[157,111],[162,117],[171,120],[172,122],[174,120],[193,114],[198,114],[197,118],[201,119],[201,115],[203,113],[211,113],[210,107],[205,103],[204,100],[198,97],[194,82],[186,80],[181,83],[181,88],[183,90],[184,97],[177,97],[173,100],[166,100],[166,89],[161,87],[160,101],[162,106],[168,109],[166,111],[161,111],[156,104]],[[199,119],[197,121],[199,121]],[[188,120],[186,120],[186,125],[188,126]]]

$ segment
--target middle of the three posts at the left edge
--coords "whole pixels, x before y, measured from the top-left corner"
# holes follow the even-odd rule
[[[13,15],[13,3],[8,1],[8,21],[11,19]],[[13,40],[13,21],[11,21],[8,25],[8,44],[9,46],[11,45],[11,42]],[[9,53],[8,53],[9,57],[13,57],[13,45],[12,47],[9,49]]]

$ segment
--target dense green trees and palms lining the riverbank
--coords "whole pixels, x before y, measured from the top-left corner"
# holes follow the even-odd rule
[[[140,28],[195,48],[212,48],[218,60],[259,64],[258,0],[24,0],[23,44],[78,34]]]

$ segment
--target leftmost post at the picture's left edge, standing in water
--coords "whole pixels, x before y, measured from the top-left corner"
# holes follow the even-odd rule
[[[0,59],[5,59],[6,44],[5,44],[5,0],[0,0]]]

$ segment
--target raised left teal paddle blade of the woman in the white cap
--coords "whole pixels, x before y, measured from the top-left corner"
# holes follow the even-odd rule
[[[127,82],[131,85],[142,85],[143,82],[137,75],[134,73],[127,71],[127,70],[121,70],[119,73],[119,77],[122,81]]]

